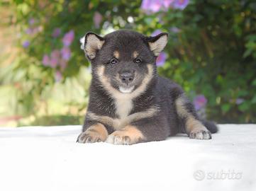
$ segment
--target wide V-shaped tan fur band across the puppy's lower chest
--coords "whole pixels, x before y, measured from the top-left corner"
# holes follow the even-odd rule
[[[158,111],[159,111],[159,108],[157,106],[152,106],[151,108],[149,108],[148,110],[145,110],[144,112],[135,112],[121,119],[119,118],[113,119],[108,116],[96,115],[93,112],[88,112],[87,116],[91,120],[97,120],[103,124],[113,127],[113,129],[119,130],[119,129],[123,129],[123,127],[126,127],[126,125],[130,124],[131,122],[135,122],[147,117],[152,117]]]

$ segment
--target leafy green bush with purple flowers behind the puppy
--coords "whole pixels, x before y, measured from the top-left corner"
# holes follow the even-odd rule
[[[62,83],[89,66],[79,50],[79,38],[87,31],[167,32],[167,48],[157,58],[160,74],[181,84],[196,109],[206,108],[208,117],[218,122],[256,122],[256,4],[252,1],[13,0],[11,6],[17,10],[13,22],[20,28],[19,45],[24,51],[18,67],[29,70],[32,65],[41,74],[30,99],[40,98],[45,84]],[[30,74],[26,80],[35,79]]]

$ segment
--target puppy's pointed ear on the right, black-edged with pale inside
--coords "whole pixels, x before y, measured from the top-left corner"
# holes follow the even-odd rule
[[[155,37],[148,37],[148,45],[150,50],[157,57],[160,52],[165,48],[165,45],[168,42],[168,33],[160,33]]]

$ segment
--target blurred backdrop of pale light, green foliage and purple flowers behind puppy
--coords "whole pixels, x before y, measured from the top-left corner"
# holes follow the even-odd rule
[[[0,1],[0,126],[79,125],[90,65],[79,38],[131,29],[169,33],[158,71],[201,115],[256,122],[256,2]]]

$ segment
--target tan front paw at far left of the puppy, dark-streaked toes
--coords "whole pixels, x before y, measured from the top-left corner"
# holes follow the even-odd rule
[[[77,141],[79,143],[95,143],[100,141],[106,141],[108,132],[106,127],[101,123],[91,125],[85,132],[82,132]]]

